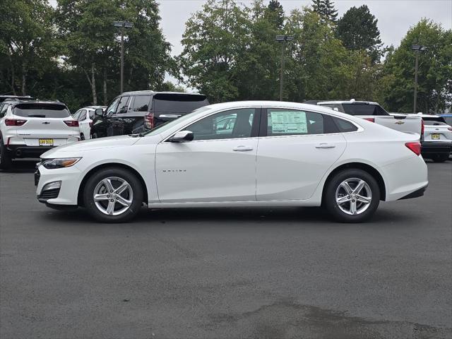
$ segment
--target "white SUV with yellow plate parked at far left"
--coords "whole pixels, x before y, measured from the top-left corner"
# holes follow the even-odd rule
[[[78,121],[61,102],[4,102],[0,108],[0,169],[11,160],[39,157],[54,146],[80,140]]]

